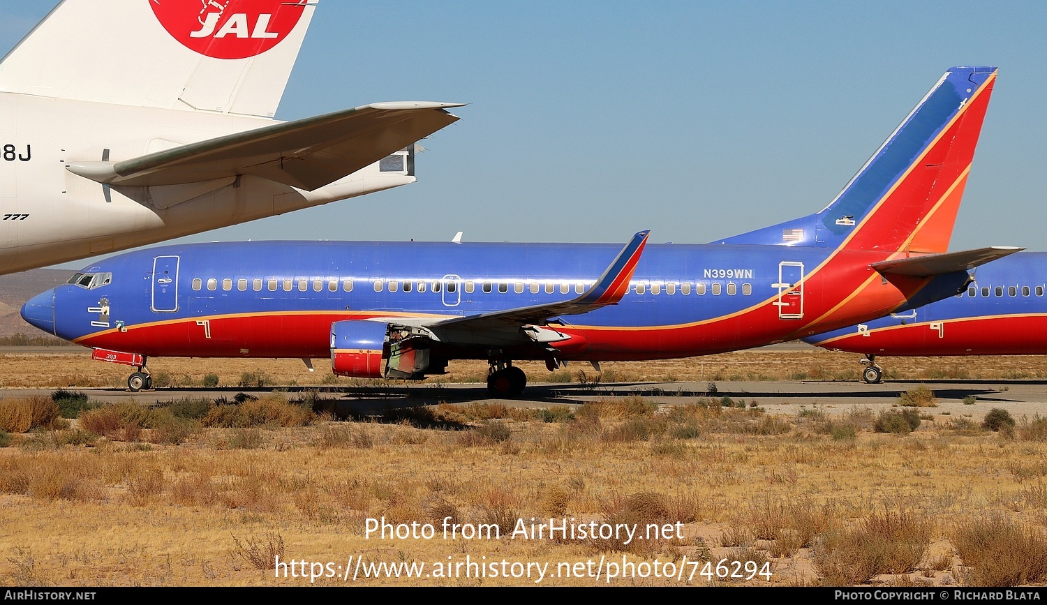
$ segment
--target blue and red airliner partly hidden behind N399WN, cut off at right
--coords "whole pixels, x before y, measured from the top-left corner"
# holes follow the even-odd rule
[[[980,267],[966,290],[938,302],[805,338],[864,354],[862,378],[883,380],[876,356],[1047,354],[1047,253]]]

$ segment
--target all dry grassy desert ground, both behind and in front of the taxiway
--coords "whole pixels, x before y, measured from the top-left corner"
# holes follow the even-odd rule
[[[764,406],[707,386],[346,419],[337,388],[367,385],[322,360],[310,374],[157,359],[170,386],[149,405],[98,406],[77,389],[120,393],[130,368],[69,348],[2,355],[4,585],[1047,583],[1042,402],[1001,414],[920,386],[1006,394],[1039,384],[1043,357],[884,359],[900,386],[878,406]],[[536,387],[794,384],[855,380],[856,361],[798,349],[525,369]],[[451,371],[442,383],[482,381],[486,365]],[[219,401],[194,396],[208,374],[228,387]],[[53,396],[4,395],[17,387]]]

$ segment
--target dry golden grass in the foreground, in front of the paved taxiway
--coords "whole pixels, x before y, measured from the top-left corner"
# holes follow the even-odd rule
[[[243,405],[265,410],[270,404]],[[304,426],[282,426],[283,413],[259,411],[242,416],[254,419],[252,426],[207,428],[203,419],[217,407],[238,406],[186,400],[122,414],[113,413],[121,411],[114,406],[107,412],[115,419],[112,435],[96,438],[93,447],[59,430],[23,435],[22,447],[0,450],[6,513],[0,516],[0,583],[308,584],[308,578],[260,572],[281,547],[281,560],[344,561],[363,554],[369,561],[432,563],[468,555],[553,566],[601,556],[774,558],[771,583],[778,585],[870,578],[904,584],[913,581],[913,570],[938,585],[1009,581],[965,545],[980,543],[968,537],[977,532],[961,530],[984,525],[983,514],[1006,521],[988,533],[1018,544],[1016,556],[1045,559],[1038,548],[1047,443],[1034,439],[1001,440],[945,423],[899,438],[873,432],[875,417],[865,409],[775,417],[720,400],[661,409],[640,398],[609,400],[556,412],[557,422],[478,404],[398,410],[381,423],[313,418]],[[81,422],[105,410],[84,411]],[[221,418],[231,418],[226,413],[232,414]],[[176,446],[153,436],[157,418],[199,424]],[[137,441],[117,441],[128,436],[120,427],[131,421],[140,427]],[[849,427],[851,436],[834,439],[833,426]],[[647,441],[637,436],[643,434]],[[491,523],[503,537],[365,539],[364,520],[381,516],[438,528],[445,518]],[[680,522],[685,538],[506,537],[518,519],[550,517],[639,523],[641,530]],[[944,543],[929,552],[936,528]],[[943,554],[952,552],[963,567],[952,566]],[[1022,581],[1047,581],[1038,574],[1028,568]],[[484,581],[524,583],[533,581]]]

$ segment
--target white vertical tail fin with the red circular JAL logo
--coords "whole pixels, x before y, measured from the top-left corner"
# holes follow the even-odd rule
[[[0,92],[271,117],[316,0],[64,0]]]

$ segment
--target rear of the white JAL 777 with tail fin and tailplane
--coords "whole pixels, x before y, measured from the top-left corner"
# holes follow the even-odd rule
[[[63,0],[0,61],[0,274],[414,182],[458,104],[272,119],[315,8]]]

